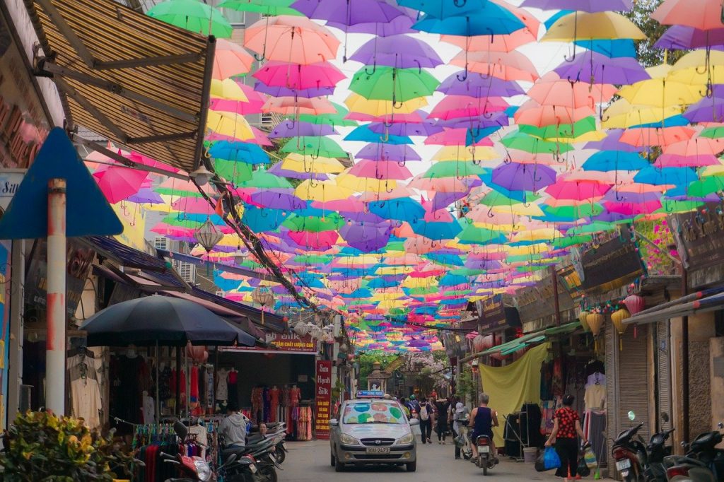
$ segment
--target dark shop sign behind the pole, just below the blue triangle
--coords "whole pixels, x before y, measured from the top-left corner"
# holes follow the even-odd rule
[[[47,260],[48,245],[46,240],[38,240],[33,250],[33,258],[30,261],[30,269],[25,278],[25,303],[30,308],[46,307],[47,294]],[[93,259],[96,258],[96,252],[86,245],[82,245],[74,240],[68,240],[67,247],[67,265],[66,265],[66,287],[65,305],[67,316],[75,315],[75,310],[80,303],[80,297],[83,295],[83,287],[85,287],[85,279],[88,278],[90,266],[93,265]]]

